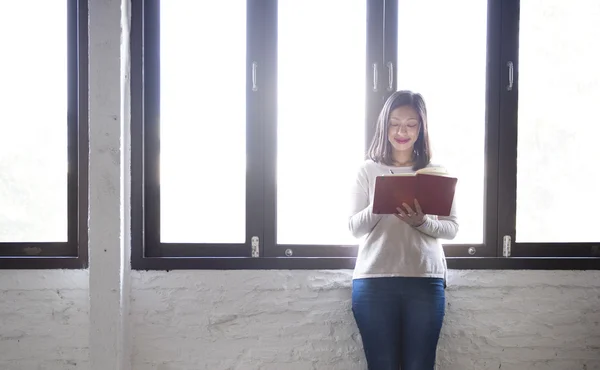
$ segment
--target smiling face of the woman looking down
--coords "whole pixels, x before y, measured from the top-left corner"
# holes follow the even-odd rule
[[[419,115],[411,106],[402,106],[390,113],[388,140],[394,151],[412,151],[419,137]]]

